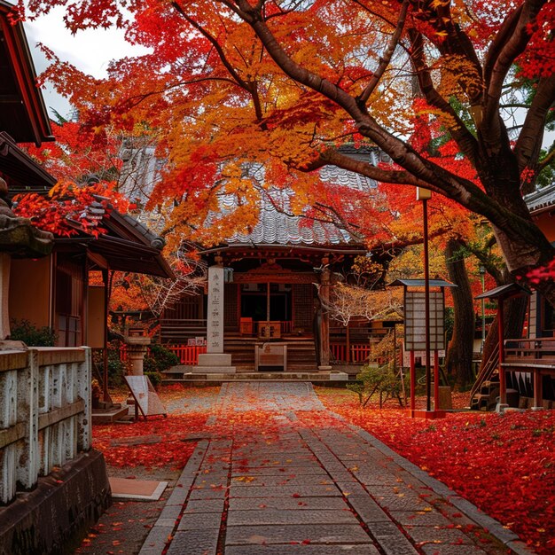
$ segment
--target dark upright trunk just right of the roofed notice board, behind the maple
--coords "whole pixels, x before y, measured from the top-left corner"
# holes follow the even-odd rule
[[[445,249],[445,260],[449,279],[457,287],[451,289],[455,324],[445,366],[449,374],[455,376],[457,387],[465,387],[473,381],[473,339],[476,319],[465,259],[458,254],[460,250],[460,243],[456,239],[449,239]]]

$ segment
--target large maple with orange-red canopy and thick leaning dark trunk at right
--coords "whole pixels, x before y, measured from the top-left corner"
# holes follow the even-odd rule
[[[199,229],[222,187],[240,199],[235,224],[251,221],[256,189],[245,161],[261,162],[267,183],[293,184],[300,201],[317,190],[310,171],[336,164],[425,187],[487,218],[513,274],[553,258],[521,193],[543,169],[555,98],[552,3],[150,0],[124,12],[113,0],[35,0],[29,8],[59,4],[74,31],[115,23],[151,49],[113,62],[106,80],[59,60],[48,77],[95,129],[149,122],[168,159],[151,207],[178,205],[173,231]],[[523,123],[509,129],[504,101],[519,98],[525,79],[532,93]],[[441,123],[472,178],[403,139],[411,114]],[[346,139],[371,141],[397,167],[341,154],[335,145]],[[537,287],[555,302],[553,283]]]

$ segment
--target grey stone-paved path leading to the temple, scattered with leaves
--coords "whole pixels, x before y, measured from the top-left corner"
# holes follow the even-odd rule
[[[224,384],[216,433],[199,442],[140,555],[167,545],[167,555],[532,552],[356,426],[305,425],[307,410],[329,415],[309,383]],[[249,411],[258,418],[233,424]]]

